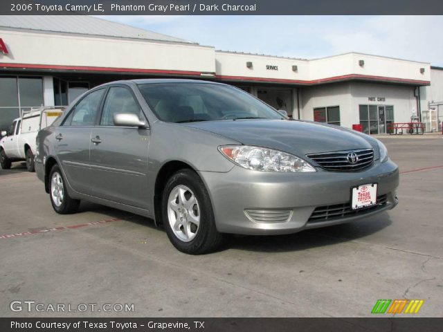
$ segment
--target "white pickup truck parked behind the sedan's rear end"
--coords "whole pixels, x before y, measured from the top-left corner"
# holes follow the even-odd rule
[[[26,168],[34,172],[35,138],[40,129],[50,126],[62,115],[63,108],[38,107],[23,112],[21,118],[12,121],[7,136],[0,140],[0,165],[9,169],[11,163],[26,160]]]

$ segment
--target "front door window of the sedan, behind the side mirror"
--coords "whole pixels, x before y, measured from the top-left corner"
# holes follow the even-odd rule
[[[115,86],[109,89],[100,124],[114,126],[114,115],[118,113],[132,113],[140,117],[141,109],[128,89]]]

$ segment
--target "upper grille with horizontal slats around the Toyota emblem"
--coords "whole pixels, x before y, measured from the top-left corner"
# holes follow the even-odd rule
[[[352,164],[348,160],[347,156],[354,152],[357,156],[356,163]],[[311,160],[314,160],[321,168],[327,171],[335,172],[353,172],[366,168],[374,161],[374,150],[349,150],[349,151],[336,151],[326,152],[323,154],[307,154]]]

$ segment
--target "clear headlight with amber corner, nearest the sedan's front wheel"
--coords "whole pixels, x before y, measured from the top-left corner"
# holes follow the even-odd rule
[[[248,145],[226,145],[219,147],[219,151],[237,165],[255,171],[316,172],[305,160],[278,150]]]

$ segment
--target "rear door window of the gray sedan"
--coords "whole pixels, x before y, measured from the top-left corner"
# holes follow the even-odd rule
[[[93,126],[105,89],[89,93],[76,106],[64,122],[64,126]]]

